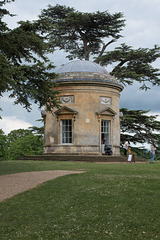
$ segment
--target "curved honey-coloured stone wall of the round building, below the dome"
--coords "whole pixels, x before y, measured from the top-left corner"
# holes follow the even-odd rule
[[[101,154],[101,120],[110,121],[110,144],[119,155],[119,86],[103,82],[63,82],[60,97],[68,102],[62,110],[46,114],[44,153]],[[66,97],[66,98],[65,98]],[[101,98],[110,101],[102,104]],[[71,100],[72,99],[72,100]],[[73,142],[61,144],[61,120],[72,119]]]

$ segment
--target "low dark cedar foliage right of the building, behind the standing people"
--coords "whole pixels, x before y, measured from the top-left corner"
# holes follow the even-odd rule
[[[157,116],[145,110],[128,110],[121,108],[121,148],[126,140],[131,142],[132,151],[138,156],[149,158],[146,143],[157,148],[156,157],[160,159],[160,121]],[[134,147],[133,147],[134,144]],[[139,147],[141,146],[141,147]]]

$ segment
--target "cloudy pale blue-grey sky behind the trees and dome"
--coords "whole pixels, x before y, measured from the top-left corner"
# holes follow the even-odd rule
[[[126,26],[121,32],[123,38],[112,47],[126,43],[133,48],[153,48],[160,45],[160,2],[159,0],[15,0],[6,4],[15,17],[7,17],[4,20],[10,28],[17,26],[20,20],[36,20],[42,9],[48,5],[56,4],[73,7],[81,12],[108,11],[113,14],[122,12],[126,19]],[[65,54],[56,51],[51,56],[56,68],[68,62]],[[160,68],[160,60],[156,61],[154,67]],[[148,91],[140,91],[139,84],[125,87],[120,96],[120,107],[128,109],[150,110],[150,114],[158,115],[160,120],[160,87],[151,87]],[[0,99],[0,129],[8,134],[10,131],[31,126],[40,127],[42,124],[37,121],[41,118],[41,109],[37,105],[32,106],[29,113],[21,105],[14,105],[13,100],[8,98],[8,94]]]

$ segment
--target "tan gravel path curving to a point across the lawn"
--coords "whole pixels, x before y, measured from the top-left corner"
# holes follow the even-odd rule
[[[54,170],[0,176],[0,202],[57,177],[83,172],[84,171]]]

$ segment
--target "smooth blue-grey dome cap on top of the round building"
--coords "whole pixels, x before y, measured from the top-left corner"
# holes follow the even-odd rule
[[[91,73],[103,73],[108,74],[104,67],[101,67],[95,62],[76,60],[71,61],[63,65],[57,73],[68,73],[68,72],[91,72]]]

